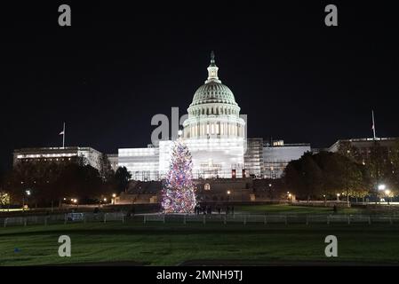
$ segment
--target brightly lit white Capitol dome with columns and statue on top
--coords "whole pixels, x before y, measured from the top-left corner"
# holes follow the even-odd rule
[[[183,122],[185,138],[242,138],[244,135],[240,106],[233,92],[219,80],[218,70],[212,51],[208,78],[196,90],[188,107],[188,119]]]

